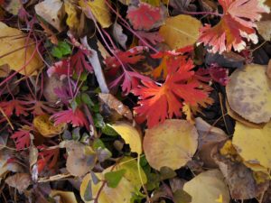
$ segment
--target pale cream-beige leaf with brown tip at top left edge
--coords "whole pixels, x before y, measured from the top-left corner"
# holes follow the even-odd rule
[[[61,14],[62,5],[63,2],[61,0],[45,0],[35,5],[35,12],[61,32],[63,30],[63,26],[61,25],[63,18],[63,14]]]

